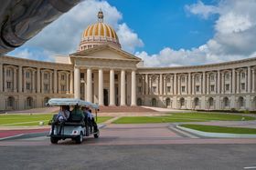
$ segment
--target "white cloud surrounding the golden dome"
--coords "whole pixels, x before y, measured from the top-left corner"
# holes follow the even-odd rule
[[[24,46],[41,47],[53,54],[76,52],[82,32],[88,25],[97,22],[99,10],[104,13],[104,23],[111,25],[119,35],[123,49],[133,52],[136,46],[142,46],[142,40],[122,21],[123,15],[107,1],[88,0],[72,8],[67,14],[48,25]],[[122,34],[122,35],[121,35]],[[129,38],[127,38],[129,36]]]

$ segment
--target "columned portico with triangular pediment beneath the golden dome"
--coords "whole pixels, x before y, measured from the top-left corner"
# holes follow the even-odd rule
[[[136,105],[136,65],[140,58],[111,45],[99,45],[72,54],[70,59],[75,98],[99,105]]]

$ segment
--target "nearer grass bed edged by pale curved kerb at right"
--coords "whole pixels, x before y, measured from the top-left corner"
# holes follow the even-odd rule
[[[254,128],[242,128],[242,127],[225,127],[217,125],[180,125],[190,129],[211,132],[211,133],[228,133],[228,134],[250,134],[256,135],[256,129]]]

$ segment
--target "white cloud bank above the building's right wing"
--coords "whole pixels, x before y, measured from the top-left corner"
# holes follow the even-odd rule
[[[146,66],[203,65],[256,56],[256,1],[223,0],[216,6],[198,1],[186,9],[204,18],[219,14],[215,35],[205,45],[189,50],[167,47],[155,55],[137,52]]]

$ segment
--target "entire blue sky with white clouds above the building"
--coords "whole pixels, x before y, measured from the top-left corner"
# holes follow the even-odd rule
[[[256,56],[255,0],[87,0],[7,54],[54,61],[69,55],[81,33],[104,22],[119,36],[123,50],[145,66],[205,65]]]

